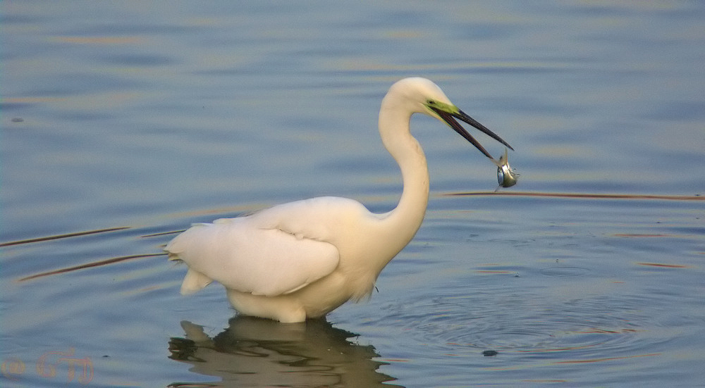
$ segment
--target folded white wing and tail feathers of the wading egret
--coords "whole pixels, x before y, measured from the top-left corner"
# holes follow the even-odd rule
[[[329,275],[340,259],[329,242],[261,227],[250,217],[194,225],[165,250],[195,272],[185,278],[182,292],[195,292],[212,279],[240,292],[288,294]]]

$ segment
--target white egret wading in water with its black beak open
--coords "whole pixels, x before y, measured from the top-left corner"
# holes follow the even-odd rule
[[[326,196],[195,224],[164,248],[171,260],[188,265],[181,294],[215,280],[235,310],[285,323],[319,318],[369,296],[381,270],[411,241],[426,213],[429,171],[409,131],[414,113],[442,120],[488,158],[455,118],[512,148],[451,104],[433,82],[400,80],[379,110],[382,143],[403,178],[395,209],[376,214],[352,199]]]

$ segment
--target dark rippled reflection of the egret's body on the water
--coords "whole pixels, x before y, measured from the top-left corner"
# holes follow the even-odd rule
[[[171,338],[169,358],[191,363],[192,372],[220,377],[218,386],[399,387],[382,384],[396,379],[377,372],[386,363],[373,360],[379,356],[373,346],[348,341],[355,334],[326,320],[278,323],[235,316],[214,338],[188,321],[181,327],[186,338]]]

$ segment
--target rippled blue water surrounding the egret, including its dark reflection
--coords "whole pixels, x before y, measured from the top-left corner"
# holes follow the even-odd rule
[[[2,2],[0,385],[702,386],[704,20],[697,1]],[[190,223],[395,206],[376,113],[409,75],[514,146],[517,186],[415,118],[429,210],[369,302],[281,325],[218,285],[180,296],[159,254]]]

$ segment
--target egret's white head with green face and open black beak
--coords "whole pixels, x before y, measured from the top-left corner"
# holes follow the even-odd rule
[[[480,132],[487,134],[489,137],[495,139],[496,141],[504,144],[509,149],[514,150],[507,142],[505,142],[501,137],[487,129],[484,125],[480,124],[477,120],[470,117],[461,111],[457,106],[450,102],[446,94],[443,93],[438,85],[434,84],[430,80],[420,77],[405,78],[396,82],[392,85],[390,92],[394,91],[395,94],[404,96],[405,100],[413,104],[413,109],[417,113],[424,113],[431,117],[437,118],[443,123],[446,123],[449,127],[453,128],[455,132],[458,132],[460,136],[465,137],[465,139],[472,143],[477,149],[479,149],[482,154],[490,159],[492,156],[487,152],[486,149],[479,144],[470,133],[463,128],[458,121],[455,119],[463,121],[464,123],[472,125]]]

